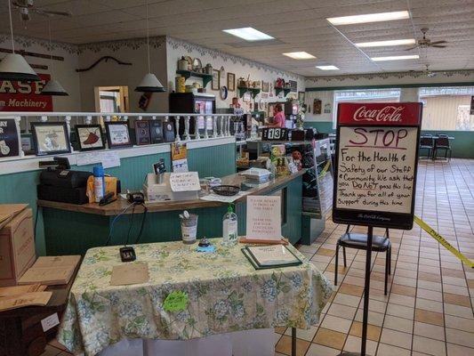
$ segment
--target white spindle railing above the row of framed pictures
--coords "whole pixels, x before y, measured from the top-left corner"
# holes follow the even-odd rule
[[[174,125],[175,142],[187,142],[195,140],[206,140],[209,138],[229,137],[230,122],[234,114],[175,114],[175,113],[98,113],[98,112],[0,112],[1,117],[15,117],[19,123],[22,133],[29,133],[29,123],[31,122],[62,122],[65,121],[68,127],[68,134],[71,127],[75,125],[103,124],[108,121],[129,121],[133,120],[157,120],[170,121]],[[182,120],[181,120],[182,118]],[[203,122],[204,121],[204,122]],[[184,125],[183,134],[180,136],[180,122]],[[191,133],[191,122],[194,123],[194,130]],[[199,126],[204,124],[204,130]],[[181,127],[182,129],[182,127]],[[71,147],[71,151],[73,148]]]

